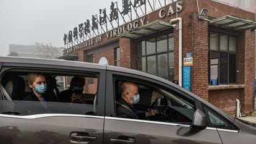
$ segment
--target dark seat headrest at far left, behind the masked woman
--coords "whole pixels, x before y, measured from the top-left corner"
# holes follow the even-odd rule
[[[4,87],[12,100],[23,100],[25,92],[25,80],[22,77],[12,77]]]

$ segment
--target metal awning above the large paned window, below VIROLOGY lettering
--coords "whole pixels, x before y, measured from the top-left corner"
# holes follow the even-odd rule
[[[160,32],[161,30],[166,30],[171,28],[172,25],[169,22],[163,22],[161,20],[155,20],[148,23],[147,25],[142,25],[135,28],[132,31],[122,33],[119,37],[136,39],[142,36],[150,35],[152,33]]]

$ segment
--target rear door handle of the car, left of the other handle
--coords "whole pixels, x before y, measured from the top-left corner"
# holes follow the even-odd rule
[[[93,142],[93,141],[96,140],[96,137],[91,137],[91,136],[89,136],[88,133],[85,133],[85,135],[80,135],[80,134],[77,135],[77,134],[78,134],[77,132],[71,133],[71,135],[70,135],[70,142],[71,143],[87,144],[89,142]]]

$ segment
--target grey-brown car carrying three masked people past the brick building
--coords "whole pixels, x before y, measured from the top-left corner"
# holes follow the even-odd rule
[[[256,127],[229,116],[190,91],[137,70],[85,62],[0,57],[0,143],[255,143]],[[44,74],[51,101],[23,100],[30,73]],[[85,103],[61,102],[70,78],[85,78]],[[117,117],[122,82],[139,87],[139,112]]]

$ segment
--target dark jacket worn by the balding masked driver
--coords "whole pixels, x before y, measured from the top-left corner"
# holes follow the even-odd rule
[[[126,103],[123,98],[117,101],[116,114],[117,117],[128,119],[145,119],[145,112],[139,113],[132,105]]]

